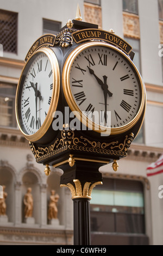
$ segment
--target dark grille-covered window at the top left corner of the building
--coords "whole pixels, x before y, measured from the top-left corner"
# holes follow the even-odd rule
[[[0,10],[0,44],[3,51],[17,53],[17,13]]]

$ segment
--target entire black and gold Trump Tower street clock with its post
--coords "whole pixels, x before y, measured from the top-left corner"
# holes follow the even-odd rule
[[[112,163],[117,171],[117,160],[127,156],[145,117],[146,91],[132,47],[77,13],[27,53],[16,119],[45,174],[51,166],[64,171],[60,186],[72,194],[74,245],[90,245],[91,192],[103,182],[99,167]]]

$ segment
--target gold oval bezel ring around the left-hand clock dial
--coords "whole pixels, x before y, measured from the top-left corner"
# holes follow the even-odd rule
[[[21,127],[20,117],[18,115],[18,107],[20,107],[20,106],[18,106],[18,95],[20,92],[24,69],[26,69],[26,66],[31,61],[31,59],[35,56],[35,54],[37,54],[39,52],[45,53],[52,65],[52,72],[53,72],[52,100],[51,100],[51,105],[49,106],[49,109],[48,109],[46,119],[43,121],[43,124],[40,127],[40,129],[38,131],[36,131],[33,135],[28,135],[26,132],[23,131],[23,129]],[[45,48],[45,47],[40,48],[39,50],[35,51],[32,54],[32,56],[30,56],[30,58],[27,60],[26,64],[24,65],[23,70],[21,72],[20,79],[18,81],[17,90],[16,90],[16,103],[15,103],[16,121],[17,121],[17,125],[18,125],[19,129],[23,133],[24,137],[26,139],[28,139],[28,141],[32,141],[32,142],[39,141],[39,139],[41,139],[45,135],[47,130],[49,129],[49,126],[51,125],[52,120],[53,120],[53,113],[57,109],[57,105],[58,105],[59,87],[60,87],[60,71],[59,71],[59,64],[58,64],[57,57],[56,57],[55,53],[50,48]]]

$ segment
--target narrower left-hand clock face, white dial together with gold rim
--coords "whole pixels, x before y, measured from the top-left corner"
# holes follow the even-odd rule
[[[22,71],[16,116],[20,129],[30,141],[40,139],[50,125],[59,95],[57,68],[54,52],[45,48],[35,52]]]

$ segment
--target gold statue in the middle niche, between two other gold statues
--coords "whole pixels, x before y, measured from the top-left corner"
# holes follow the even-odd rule
[[[24,209],[24,216],[25,218],[28,217],[32,217],[32,213],[33,213],[33,196],[31,194],[32,188],[28,187],[27,188],[27,193],[24,196],[24,205],[25,205],[25,209]]]

